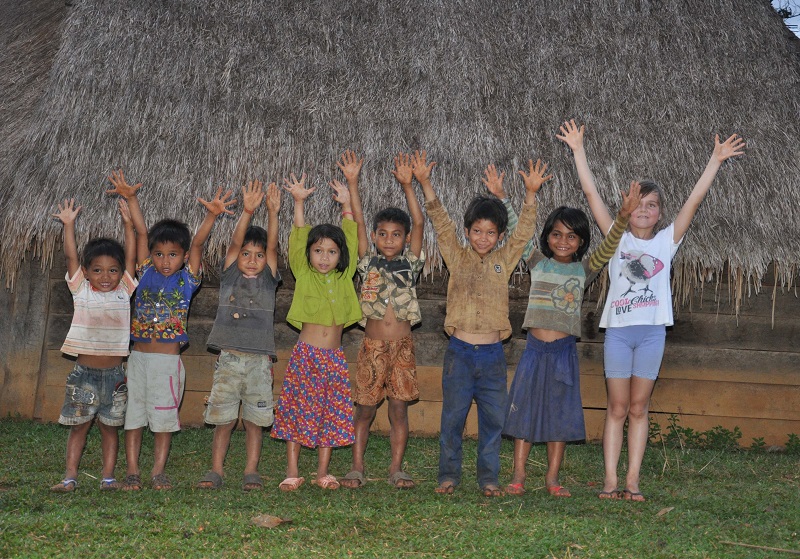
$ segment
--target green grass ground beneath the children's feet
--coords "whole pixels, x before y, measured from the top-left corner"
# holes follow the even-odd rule
[[[464,482],[455,495],[436,486],[438,441],[412,438],[410,491],[386,483],[389,443],[373,436],[368,484],[325,491],[306,483],[282,493],[285,447],[267,440],[261,461],[265,488],[244,493],[244,437],[236,432],[225,486],[194,488],[208,469],[210,429],[187,429],[173,440],[168,473],[174,490],[101,492],[100,436],[90,433],[73,494],[51,493],[63,475],[67,428],[0,420],[0,557],[781,557],[784,552],[723,542],[800,550],[800,462],[797,456],[650,448],[643,466],[646,503],[601,501],[602,452],[567,448],[562,483],[571,499],[540,489],[545,452],[535,446],[528,493],[484,498],[475,484],[475,442],[466,441]],[[145,434],[143,468],[152,437]],[[502,479],[511,473],[510,441]],[[122,454],[122,453],[121,453]],[[623,460],[625,456],[623,454]],[[344,475],[350,451],[334,451],[332,471]],[[316,455],[303,451],[308,479]],[[124,459],[118,477],[124,476]],[[145,469],[145,471],[148,471]],[[92,477],[94,476],[94,477]],[[537,487],[539,490],[537,490]],[[263,528],[262,514],[291,519]]]

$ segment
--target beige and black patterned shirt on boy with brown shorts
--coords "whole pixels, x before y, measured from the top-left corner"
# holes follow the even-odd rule
[[[406,251],[394,260],[380,255],[365,254],[358,262],[361,277],[361,326],[367,319],[383,320],[386,308],[391,305],[397,320],[407,320],[411,326],[422,321],[415,287],[419,273],[425,265],[425,253],[417,257]]]

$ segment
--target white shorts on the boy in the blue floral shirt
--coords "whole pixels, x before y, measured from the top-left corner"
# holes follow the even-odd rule
[[[153,433],[180,431],[178,408],[185,380],[180,355],[132,351],[128,357],[125,430],[149,426]]]

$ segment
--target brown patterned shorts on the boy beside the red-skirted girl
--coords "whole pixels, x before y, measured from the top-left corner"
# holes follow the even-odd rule
[[[356,404],[376,406],[384,398],[411,402],[419,398],[414,338],[373,340],[364,336],[358,352]]]

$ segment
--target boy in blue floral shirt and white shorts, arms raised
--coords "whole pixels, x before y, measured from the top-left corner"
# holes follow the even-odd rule
[[[164,219],[147,231],[137,192],[141,183],[131,186],[122,171],[112,172],[108,180],[128,201],[136,228],[136,254],[139,289],[136,291],[131,323],[133,351],[128,358],[128,411],[125,415],[125,456],[128,473],[126,490],[142,488],[139,452],[144,428],[153,432],[153,489],[172,489],[164,469],[167,465],[172,433],[180,430],[178,408],[186,378],[181,348],[189,341],[186,319],[189,304],[200,286],[203,246],[221,213],[232,214],[228,206],[231,192],[222,187],[210,202],[198,198],[207,213],[192,238],[180,221]]]

